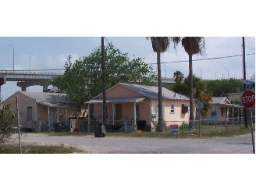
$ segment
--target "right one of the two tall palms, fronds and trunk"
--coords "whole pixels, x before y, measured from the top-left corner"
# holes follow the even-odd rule
[[[189,80],[190,80],[190,123],[189,127],[194,128],[194,96],[193,96],[193,66],[192,56],[195,54],[204,54],[204,37],[183,37],[181,44],[188,54],[188,68],[189,68]]]

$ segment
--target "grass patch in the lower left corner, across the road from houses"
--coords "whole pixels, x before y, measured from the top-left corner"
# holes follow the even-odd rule
[[[21,144],[23,154],[71,154],[83,153],[84,151],[65,147],[64,145],[37,145],[37,144]],[[5,143],[0,144],[0,154],[20,154],[19,144]]]

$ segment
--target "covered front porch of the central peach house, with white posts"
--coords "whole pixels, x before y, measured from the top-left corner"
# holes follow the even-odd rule
[[[103,101],[96,99],[87,101],[87,131],[91,131],[95,123],[103,123]],[[107,131],[137,132],[151,130],[149,121],[150,107],[144,98],[112,98],[106,101]]]

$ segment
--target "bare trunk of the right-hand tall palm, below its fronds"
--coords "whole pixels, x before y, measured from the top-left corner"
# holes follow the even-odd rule
[[[193,96],[193,66],[192,66],[192,54],[188,55],[188,68],[189,68],[189,78],[190,78],[190,123],[189,128],[194,128],[194,96]]]

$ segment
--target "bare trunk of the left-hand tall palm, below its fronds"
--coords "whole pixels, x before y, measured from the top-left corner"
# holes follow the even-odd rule
[[[162,74],[161,74],[161,62],[160,52],[157,52],[158,62],[158,131],[163,131],[163,118],[162,118]]]

